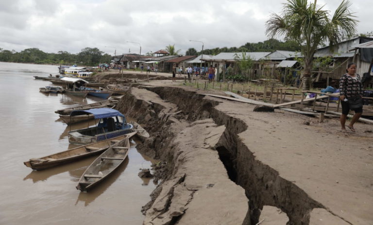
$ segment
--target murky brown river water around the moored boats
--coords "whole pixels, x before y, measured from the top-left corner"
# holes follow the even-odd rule
[[[72,147],[70,127],[55,110],[102,100],[39,92],[51,83],[33,76],[50,73],[58,73],[57,66],[0,62],[0,224],[142,224],[141,206],[155,186],[137,176],[140,168],[150,168],[151,159],[137,152],[134,141],[124,165],[88,193],[75,186],[94,157],[45,171],[23,165],[29,158]]]

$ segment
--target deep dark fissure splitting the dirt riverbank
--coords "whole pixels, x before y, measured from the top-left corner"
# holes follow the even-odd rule
[[[251,224],[257,223],[260,210],[265,205],[281,208],[289,217],[288,224],[306,225],[309,223],[309,212],[312,208],[324,208],[322,204],[309,198],[308,195],[292,182],[283,179],[278,172],[269,166],[257,161],[250,152],[248,146],[242,143],[238,134],[247,129],[247,125],[232,116],[226,115],[215,108],[219,104],[217,101],[204,98],[194,91],[187,91],[178,87],[143,87],[156,93],[161,99],[176,104],[179,110],[183,111],[179,119],[193,122],[203,118],[212,118],[216,124],[225,125],[226,132],[224,138],[228,146],[215,146],[219,153],[220,160],[224,164],[229,178],[243,187],[249,199]],[[152,109],[155,113],[163,109],[159,105],[144,104],[143,101],[136,101],[136,107],[140,111]],[[137,116],[137,119],[138,116]],[[141,118],[140,118],[141,119]],[[155,157],[166,160],[172,164],[172,156],[162,156],[157,151],[165,146],[172,147],[172,134],[168,129],[162,128],[161,135],[158,129],[154,129],[154,124],[166,125],[162,118],[148,124],[153,134],[153,146]],[[172,137],[165,142],[165,136]],[[150,143],[150,142],[148,142]],[[239,155],[239,156],[237,156]],[[258,173],[260,171],[260,173]]]

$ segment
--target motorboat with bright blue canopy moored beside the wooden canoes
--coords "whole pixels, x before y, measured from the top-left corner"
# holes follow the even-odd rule
[[[95,126],[68,132],[70,144],[89,144],[108,138],[115,138],[133,132],[133,125],[127,123],[123,114],[111,108],[93,108],[88,110],[74,110],[70,116],[93,114],[99,119]]]

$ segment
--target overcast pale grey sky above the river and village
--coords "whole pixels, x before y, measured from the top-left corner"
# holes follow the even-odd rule
[[[0,0],[0,48],[114,55],[165,49],[182,54],[268,39],[265,22],[286,0]],[[334,13],[341,0],[318,0]],[[371,32],[372,0],[353,0],[358,33]],[[105,47],[110,46],[110,47]],[[114,48],[111,48],[114,47]]]

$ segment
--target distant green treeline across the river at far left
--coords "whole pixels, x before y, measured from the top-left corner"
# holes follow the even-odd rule
[[[111,55],[103,54],[98,48],[85,48],[78,54],[66,51],[47,53],[37,48],[25,49],[21,52],[0,48],[0,61],[2,62],[97,66],[99,63],[110,63],[110,60]]]

